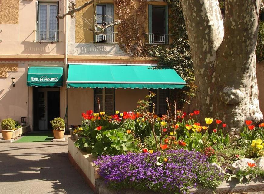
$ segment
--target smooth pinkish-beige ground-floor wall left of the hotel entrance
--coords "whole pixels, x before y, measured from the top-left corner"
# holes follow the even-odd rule
[[[20,121],[20,117],[27,117],[28,88],[26,65],[18,65],[18,71],[8,72],[7,78],[0,78],[0,122],[5,118]],[[11,77],[15,77],[15,87],[12,85]],[[26,118],[28,122],[28,118]]]

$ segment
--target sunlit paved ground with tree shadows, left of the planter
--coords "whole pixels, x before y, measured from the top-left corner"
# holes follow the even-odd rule
[[[93,194],[67,154],[68,141],[0,143],[0,194]]]

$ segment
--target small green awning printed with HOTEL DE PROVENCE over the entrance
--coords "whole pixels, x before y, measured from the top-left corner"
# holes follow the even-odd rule
[[[27,86],[63,86],[63,67],[29,67]]]

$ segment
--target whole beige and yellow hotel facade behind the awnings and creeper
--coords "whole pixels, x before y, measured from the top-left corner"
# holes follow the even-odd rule
[[[76,6],[84,2],[76,0]],[[135,3],[138,4],[137,1]],[[158,0],[149,4],[161,8],[164,16],[165,12],[168,14],[165,2]],[[144,65],[157,64],[157,59],[131,57],[119,48],[113,38],[106,40],[108,35],[96,37],[84,29],[87,26],[81,18],[92,18],[93,5],[78,12],[76,19],[54,18],[66,12],[66,8],[67,0],[1,0],[0,11],[4,14],[0,15],[0,121],[5,118],[20,121],[21,117],[26,117],[31,130],[39,131],[50,130],[49,121],[62,117],[69,127],[81,124],[82,112],[97,109],[96,94],[104,98],[101,110],[108,108],[120,112],[133,111],[137,101],[149,94],[147,88],[116,88],[111,95],[108,89],[67,88],[69,63]],[[112,15],[117,18],[115,9],[113,0],[101,1],[98,12],[101,11],[105,17],[101,20],[107,20],[107,17],[111,20]],[[147,25],[146,32],[149,33]],[[118,33],[117,27],[111,33]],[[163,34],[169,33],[164,29]],[[62,67],[62,85],[30,85],[29,82],[35,83],[28,78],[29,70],[38,67]],[[14,84],[11,78],[15,78]]]

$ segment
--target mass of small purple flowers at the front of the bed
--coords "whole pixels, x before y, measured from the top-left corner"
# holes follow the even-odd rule
[[[173,155],[161,166],[157,165],[160,152],[100,156],[95,164],[100,176],[114,188],[185,194],[196,188],[197,183],[204,188],[215,188],[223,180],[223,173],[210,166],[199,152],[180,149],[168,150],[167,154]]]

